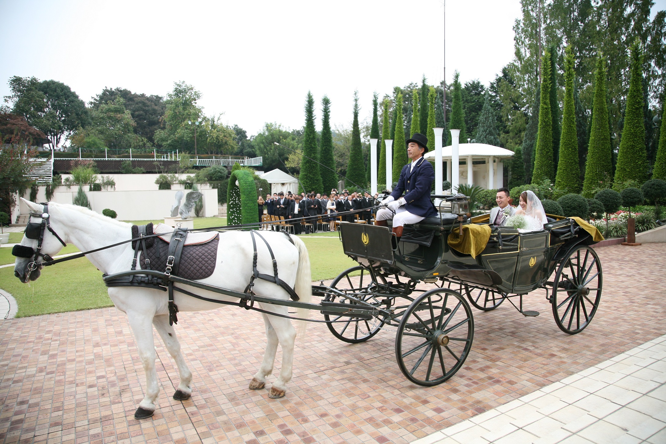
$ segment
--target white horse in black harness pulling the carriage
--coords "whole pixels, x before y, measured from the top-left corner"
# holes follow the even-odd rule
[[[21,199],[30,208],[31,212],[36,214],[43,212],[43,205]],[[131,239],[131,224],[113,220],[87,208],[50,202],[48,210],[51,228],[65,243],[74,244],[82,252]],[[31,222],[41,223],[41,218],[32,216]],[[291,236],[294,245],[287,236],[278,232],[262,232],[262,236],[273,250],[278,262],[280,279],[294,288],[300,302],[310,302],[312,296],[310,259],[305,244],[296,236]],[[37,248],[37,240],[23,236],[21,245]],[[134,255],[131,245],[131,242],[128,242],[127,244],[88,254],[87,258],[105,274],[127,271],[130,269]],[[266,245],[264,242],[257,242],[256,245],[259,272],[272,276],[273,266]],[[53,257],[61,248],[63,246],[57,238],[51,232],[45,230],[41,252]],[[249,232],[224,232],[220,234],[218,243],[218,266],[216,266],[212,276],[199,282],[243,292],[252,274],[253,255],[254,249]],[[42,259],[40,258],[40,260]],[[31,261],[32,259],[28,258],[16,259],[14,274],[21,282],[39,278],[39,270],[30,272],[28,268]],[[205,298],[238,302],[237,298],[230,296],[181,284],[178,284],[178,286]],[[255,280],[253,290],[259,296],[289,300],[288,293],[272,282]],[[155,412],[155,401],[159,394],[157,371],[155,370],[156,356],[153,326],[162,337],[166,349],[178,366],[180,384],[174,393],[174,399],[182,400],[190,397],[192,394],[192,373],[180,353],[180,343],[176,338],[174,328],[168,322],[166,292],[151,288],[111,287],[109,288],[109,296],[116,308],[127,314],[127,320],[137,339],[139,355],[146,372],[145,397],[139,403],[135,417],[141,419],[152,416]],[[198,312],[220,308],[220,304],[198,300],[179,292],[174,292],[174,302],[180,312]],[[288,316],[286,306],[259,305],[262,310]],[[286,318],[266,314],[262,314],[262,316],[266,325],[266,352],[261,367],[250,381],[250,389],[264,388],[266,376],[272,373],[275,354],[278,343],[280,343],[282,345],[282,368],[280,369],[280,376],[270,387],[268,396],[273,398],[283,397],[286,393],[286,383],[292,377],[296,330],[290,320]],[[298,309],[298,318],[307,318],[307,316],[308,310]],[[299,321],[299,330],[302,332],[304,332],[305,324],[306,322]]]

